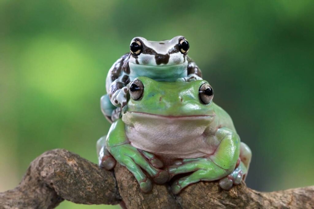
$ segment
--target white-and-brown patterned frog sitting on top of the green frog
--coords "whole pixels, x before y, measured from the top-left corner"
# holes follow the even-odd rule
[[[139,76],[156,81],[192,81],[202,78],[202,72],[187,56],[190,44],[184,36],[171,40],[149,41],[135,37],[130,52],[120,57],[109,69],[106,92],[100,99],[101,110],[108,121],[113,122],[126,110],[126,85]],[[116,108],[116,107],[121,107]]]

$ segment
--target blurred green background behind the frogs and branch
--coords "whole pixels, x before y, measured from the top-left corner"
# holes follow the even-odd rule
[[[0,191],[41,153],[96,162],[106,74],[135,36],[184,35],[261,191],[314,185],[314,1],[0,0]],[[58,208],[118,208],[62,202]]]

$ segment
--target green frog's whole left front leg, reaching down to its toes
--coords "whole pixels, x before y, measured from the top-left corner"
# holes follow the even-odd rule
[[[130,145],[121,118],[112,123],[107,135],[106,145],[116,161],[127,167],[134,175],[143,192],[149,192],[152,189],[152,183],[144,174],[143,170],[145,170],[157,184],[163,184],[168,180],[169,174],[166,171],[155,168],[150,163],[156,163],[156,160],[154,160],[156,158],[154,158],[152,154],[146,152],[142,154],[137,148]],[[157,164],[160,165],[160,162]]]

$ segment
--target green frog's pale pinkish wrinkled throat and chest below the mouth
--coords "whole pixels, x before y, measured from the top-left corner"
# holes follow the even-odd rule
[[[133,147],[158,155],[163,160],[198,158],[214,153],[219,142],[203,133],[210,116],[149,118],[125,117],[126,134]],[[131,125],[132,124],[132,125]]]

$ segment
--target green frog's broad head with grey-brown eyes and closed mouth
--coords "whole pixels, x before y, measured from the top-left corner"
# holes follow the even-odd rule
[[[202,121],[202,124],[208,124],[215,116],[213,88],[204,80],[159,82],[138,77],[129,84],[129,93],[127,111],[122,118],[128,124],[141,119],[161,119],[171,123],[178,120]]]

